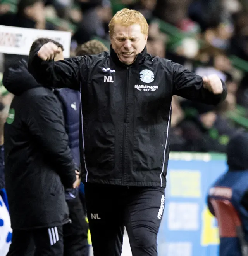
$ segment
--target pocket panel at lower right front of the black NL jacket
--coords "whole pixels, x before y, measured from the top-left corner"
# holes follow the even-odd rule
[[[138,127],[134,130],[134,170],[161,171],[167,135],[164,130],[164,126],[160,124]]]

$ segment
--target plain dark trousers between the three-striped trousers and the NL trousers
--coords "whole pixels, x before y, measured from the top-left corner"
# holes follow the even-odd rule
[[[83,205],[77,196],[67,200],[71,222],[63,226],[64,256],[88,256],[88,223],[85,219]]]

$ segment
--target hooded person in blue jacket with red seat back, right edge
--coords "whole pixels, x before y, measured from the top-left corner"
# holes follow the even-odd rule
[[[248,242],[248,133],[238,132],[227,145],[228,170],[208,192],[208,207],[217,218],[220,256],[242,256]]]

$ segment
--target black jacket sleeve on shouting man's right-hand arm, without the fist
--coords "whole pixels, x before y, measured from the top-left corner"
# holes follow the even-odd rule
[[[203,87],[202,77],[177,63],[172,63],[173,94],[197,102],[218,105],[227,96],[226,84],[221,80],[223,91],[215,95]]]

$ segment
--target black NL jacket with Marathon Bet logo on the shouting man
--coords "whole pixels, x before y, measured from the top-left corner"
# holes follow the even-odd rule
[[[202,77],[145,49],[124,65],[111,48],[98,55],[42,61],[28,67],[47,86],[81,91],[83,180],[124,186],[166,185],[173,95],[217,105]]]

